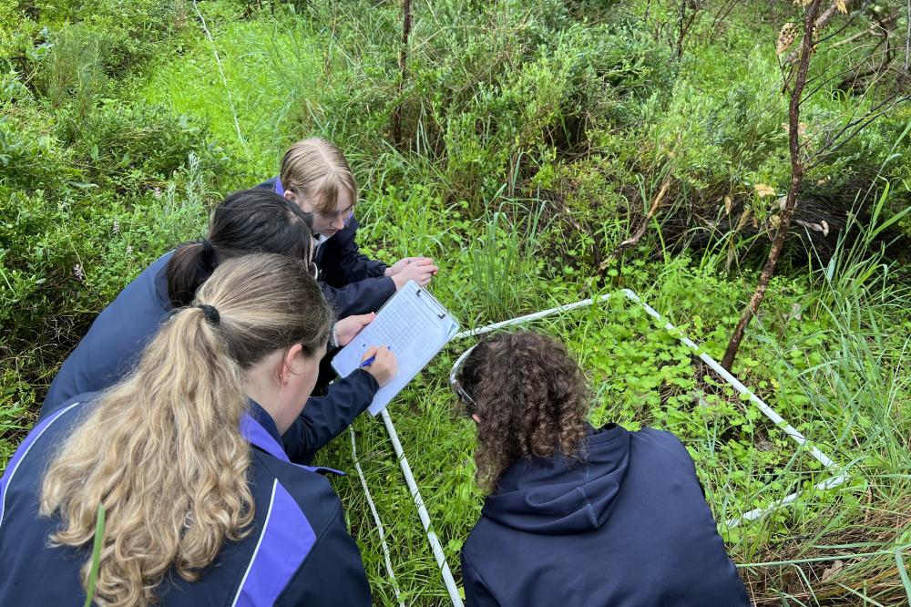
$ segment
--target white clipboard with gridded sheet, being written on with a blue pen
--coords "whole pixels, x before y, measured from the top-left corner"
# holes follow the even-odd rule
[[[398,372],[376,392],[374,402],[367,409],[376,416],[433,360],[458,329],[458,321],[443,304],[414,281],[408,281],[380,308],[374,322],[333,357],[333,369],[340,377],[348,376],[360,367],[367,348],[373,345],[392,348]]]

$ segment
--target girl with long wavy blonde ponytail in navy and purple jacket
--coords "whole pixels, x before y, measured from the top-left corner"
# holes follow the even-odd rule
[[[0,479],[0,604],[84,602],[101,505],[97,603],[369,605],[325,470],[281,449],[332,321],[305,262],[221,263],[131,375],[16,451]]]

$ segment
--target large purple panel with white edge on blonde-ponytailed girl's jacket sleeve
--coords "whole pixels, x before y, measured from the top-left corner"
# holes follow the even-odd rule
[[[301,507],[275,480],[260,540],[233,604],[244,607],[274,604],[315,542],[316,534]]]

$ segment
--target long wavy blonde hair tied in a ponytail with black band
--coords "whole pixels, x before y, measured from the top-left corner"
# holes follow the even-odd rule
[[[87,547],[98,504],[107,510],[97,577],[104,604],[154,602],[169,571],[196,581],[226,541],[250,533],[244,375],[294,344],[314,355],[332,324],[306,265],[283,255],[222,263],[194,304],[162,325],[131,376],[97,398],[43,481],[40,512],[61,520],[53,544]]]

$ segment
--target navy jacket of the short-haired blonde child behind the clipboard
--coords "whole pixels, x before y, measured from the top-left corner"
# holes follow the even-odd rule
[[[256,187],[284,194],[277,177]],[[395,294],[393,279],[383,275],[386,264],[369,259],[358,249],[354,240],[357,226],[352,217],[348,225],[320,245],[313,257],[320,269],[322,293],[340,318],[376,312]]]

